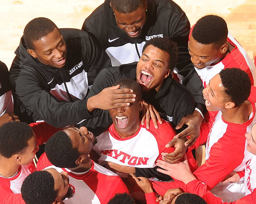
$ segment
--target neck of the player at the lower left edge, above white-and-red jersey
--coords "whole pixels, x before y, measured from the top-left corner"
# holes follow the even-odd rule
[[[0,175],[6,178],[14,176],[20,168],[19,164],[11,162],[10,159],[6,159],[1,155],[0,164]]]

